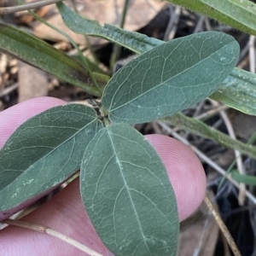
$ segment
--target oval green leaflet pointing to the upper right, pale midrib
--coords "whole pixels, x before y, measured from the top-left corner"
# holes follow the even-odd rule
[[[174,39],[115,73],[103,91],[102,106],[115,123],[143,123],[177,113],[211,95],[238,55],[236,40],[221,32]]]

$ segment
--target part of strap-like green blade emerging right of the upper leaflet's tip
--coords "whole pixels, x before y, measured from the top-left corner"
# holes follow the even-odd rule
[[[243,113],[256,115],[256,74],[234,68],[210,97]]]

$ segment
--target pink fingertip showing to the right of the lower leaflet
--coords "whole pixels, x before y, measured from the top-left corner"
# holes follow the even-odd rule
[[[166,166],[182,221],[195,212],[206,194],[207,179],[201,161],[188,146],[172,137],[156,134],[146,137]]]

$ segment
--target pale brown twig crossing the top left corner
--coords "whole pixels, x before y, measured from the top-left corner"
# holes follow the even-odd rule
[[[58,3],[61,1],[63,1],[63,0],[42,0],[42,1],[34,2],[34,3],[26,3],[26,4],[18,5],[18,6],[1,7],[0,15],[12,14],[12,13],[20,12],[20,11],[27,10],[27,9],[35,9],[38,7],[49,5],[52,3]]]

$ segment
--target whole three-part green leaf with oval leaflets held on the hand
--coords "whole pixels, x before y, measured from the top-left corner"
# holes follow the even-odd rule
[[[177,204],[159,155],[131,125],[170,116],[218,89],[239,45],[201,32],[145,51],[115,73],[100,113],[80,104],[27,120],[0,151],[0,220],[80,168],[84,207],[115,255],[176,255]]]

